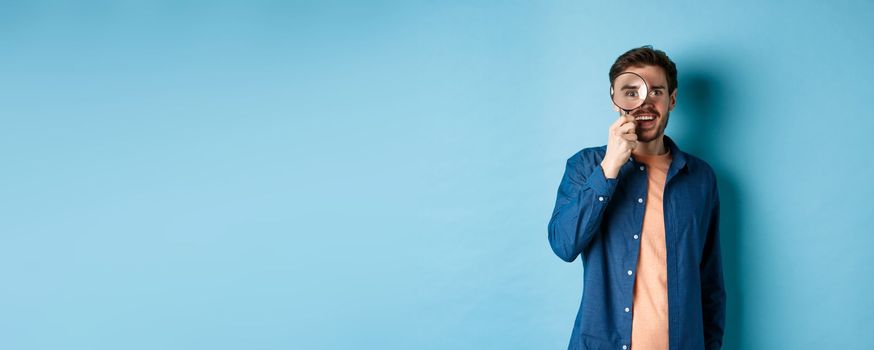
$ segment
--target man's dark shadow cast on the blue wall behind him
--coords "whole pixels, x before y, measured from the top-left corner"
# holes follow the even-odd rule
[[[683,137],[684,150],[708,162],[716,171],[720,197],[720,233],[723,254],[723,271],[727,294],[726,334],[723,349],[746,348],[743,324],[744,281],[741,276],[740,259],[742,251],[743,227],[741,203],[743,195],[737,186],[733,172],[735,169],[727,161],[731,157],[719,145],[730,145],[724,139],[732,134],[730,87],[731,76],[724,65],[692,67],[680,72],[677,105],[682,106],[683,118],[687,119],[689,132]]]

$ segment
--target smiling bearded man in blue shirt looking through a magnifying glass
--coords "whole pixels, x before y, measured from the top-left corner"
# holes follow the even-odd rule
[[[664,134],[677,102],[674,62],[644,46],[616,59],[610,81],[624,72],[643,77],[648,96],[610,126],[606,146],[568,159],[549,221],[555,254],[581,255],[584,266],[568,349],[719,349],[715,174]]]

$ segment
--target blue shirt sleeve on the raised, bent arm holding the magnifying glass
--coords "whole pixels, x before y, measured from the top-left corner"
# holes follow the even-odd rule
[[[549,244],[558,257],[572,262],[583,252],[615,191],[616,179],[607,179],[600,164],[579,153],[568,159],[549,220]]]

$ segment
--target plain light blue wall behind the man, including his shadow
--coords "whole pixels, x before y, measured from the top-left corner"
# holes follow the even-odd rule
[[[871,1],[0,4],[0,348],[562,349],[607,70],[679,67],[726,349],[874,343]]]

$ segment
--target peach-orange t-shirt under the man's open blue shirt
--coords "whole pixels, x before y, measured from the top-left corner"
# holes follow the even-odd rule
[[[647,166],[646,210],[640,239],[640,257],[634,283],[631,321],[633,349],[668,349],[668,268],[662,196],[671,165],[670,152],[634,155]]]

